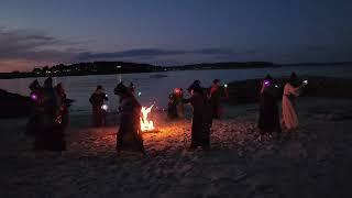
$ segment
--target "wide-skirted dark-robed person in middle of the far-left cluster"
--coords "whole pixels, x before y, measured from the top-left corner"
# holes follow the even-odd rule
[[[43,113],[40,118],[41,130],[35,135],[34,150],[65,151],[64,129],[57,121],[59,105],[53,87],[53,79],[47,78],[43,87]]]

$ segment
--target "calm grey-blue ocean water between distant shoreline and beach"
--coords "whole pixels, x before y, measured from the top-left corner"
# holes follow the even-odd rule
[[[67,97],[76,100],[70,108],[70,113],[90,113],[90,95],[97,85],[101,85],[109,96],[109,111],[117,111],[119,106],[118,97],[113,95],[113,88],[119,81],[129,85],[131,81],[136,86],[138,97],[143,106],[155,105],[155,108],[163,109],[167,106],[168,94],[176,87],[187,89],[195,80],[199,79],[204,87],[209,87],[216,78],[230,82],[233,80],[262,78],[266,74],[273,77],[288,76],[292,72],[297,75],[315,75],[329,77],[352,78],[352,66],[293,66],[279,68],[250,68],[250,69],[226,69],[226,70],[183,70],[166,73],[143,73],[143,74],[117,74],[98,76],[69,76],[55,77],[54,82],[63,82]],[[155,75],[166,75],[156,77]],[[0,79],[0,88],[10,92],[28,96],[29,84],[35,78]],[[42,84],[45,78],[37,78]]]

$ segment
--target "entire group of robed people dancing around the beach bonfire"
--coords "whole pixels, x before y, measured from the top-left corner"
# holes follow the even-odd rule
[[[284,87],[282,113],[278,107],[278,86],[276,80],[267,75],[261,82],[258,128],[262,135],[272,132],[280,133],[284,128],[293,131],[298,128],[298,117],[295,100],[307,81],[299,84],[296,74],[292,74]],[[41,86],[37,80],[30,86],[33,100],[33,113],[28,124],[28,133],[35,135],[35,150],[65,151],[64,131],[68,123],[68,107],[72,100],[66,98],[62,84],[53,87],[53,79],[47,78]],[[119,96],[120,127],[117,133],[117,152],[134,151],[145,154],[141,131],[141,109],[133,84],[120,82],[114,88]],[[183,89],[177,88],[169,95],[168,118],[184,118],[183,105],[193,107],[190,150],[202,147],[210,150],[210,129],[213,119],[222,114],[221,100],[229,99],[227,85],[221,86],[215,79],[210,88],[204,88],[199,80],[195,80],[187,89],[190,97],[184,98]],[[89,98],[92,105],[94,123],[96,127],[106,124],[105,101],[108,96],[98,86]]]

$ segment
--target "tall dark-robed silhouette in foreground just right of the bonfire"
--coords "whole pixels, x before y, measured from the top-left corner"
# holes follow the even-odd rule
[[[190,148],[200,146],[210,150],[211,103],[200,84],[193,84],[188,90],[191,97],[184,99],[184,102],[193,106]]]

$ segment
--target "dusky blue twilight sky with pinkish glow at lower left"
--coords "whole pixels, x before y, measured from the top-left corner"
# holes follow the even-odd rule
[[[1,0],[0,72],[352,61],[351,0]]]

